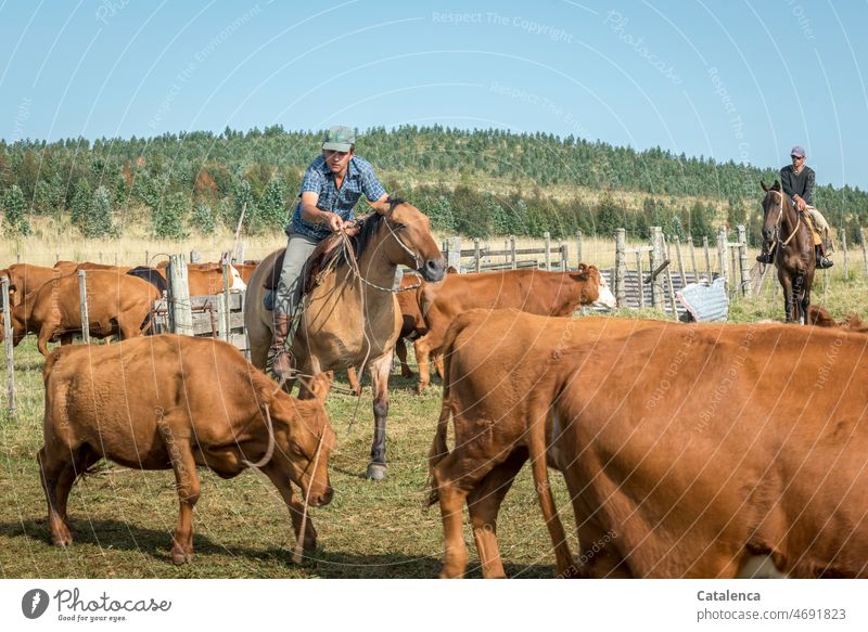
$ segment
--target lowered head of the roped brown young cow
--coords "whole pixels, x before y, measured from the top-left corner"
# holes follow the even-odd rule
[[[332,500],[329,481],[329,454],[334,447],[334,430],[326,414],[321,385],[311,382],[315,399],[298,400],[277,391],[271,400],[271,418],[281,454],[275,459],[289,464],[290,479],[302,488],[302,495],[311,506],[327,505]],[[308,496],[309,494],[309,496]]]

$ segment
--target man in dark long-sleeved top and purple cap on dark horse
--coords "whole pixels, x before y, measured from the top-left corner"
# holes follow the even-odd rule
[[[814,192],[814,169],[805,165],[805,150],[795,145],[790,152],[792,165],[787,165],[780,170],[780,183],[783,192],[793,201],[793,206],[803,218],[809,217],[806,223],[814,235],[814,251],[817,257],[817,268],[831,268],[833,261],[827,257],[834,251],[832,231],[826,218],[819,210],[810,205],[810,196]],[[757,255],[756,260],[761,263],[771,263],[771,244],[763,242],[763,250]]]

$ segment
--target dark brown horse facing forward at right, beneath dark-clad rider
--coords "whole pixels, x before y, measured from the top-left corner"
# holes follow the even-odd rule
[[[763,238],[770,243],[778,281],[783,287],[783,312],[787,322],[807,322],[810,286],[817,260],[810,228],[786,195],[780,183],[771,186],[760,182],[766,196],[763,199]]]

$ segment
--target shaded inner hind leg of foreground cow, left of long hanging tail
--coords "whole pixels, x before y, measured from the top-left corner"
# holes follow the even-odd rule
[[[482,575],[486,579],[507,576],[497,544],[497,514],[525,461],[527,461],[527,450],[524,448],[514,450],[468,494],[473,539],[482,562]]]

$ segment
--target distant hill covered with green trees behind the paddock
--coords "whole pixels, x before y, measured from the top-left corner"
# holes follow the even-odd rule
[[[92,143],[0,141],[0,205],[13,232],[46,216],[86,236],[120,236],[142,222],[154,236],[207,234],[221,223],[234,228],[245,204],[248,233],[277,231],[321,138],[273,126]],[[373,128],[357,151],[436,229],[481,237],[609,235],[618,227],[644,237],[648,227],[663,225],[701,238],[727,222],[746,223],[755,243],[760,180],[777,177],[731,160],[496,129]],[[868,194],[819,186],[815,203],[858,242]]]

